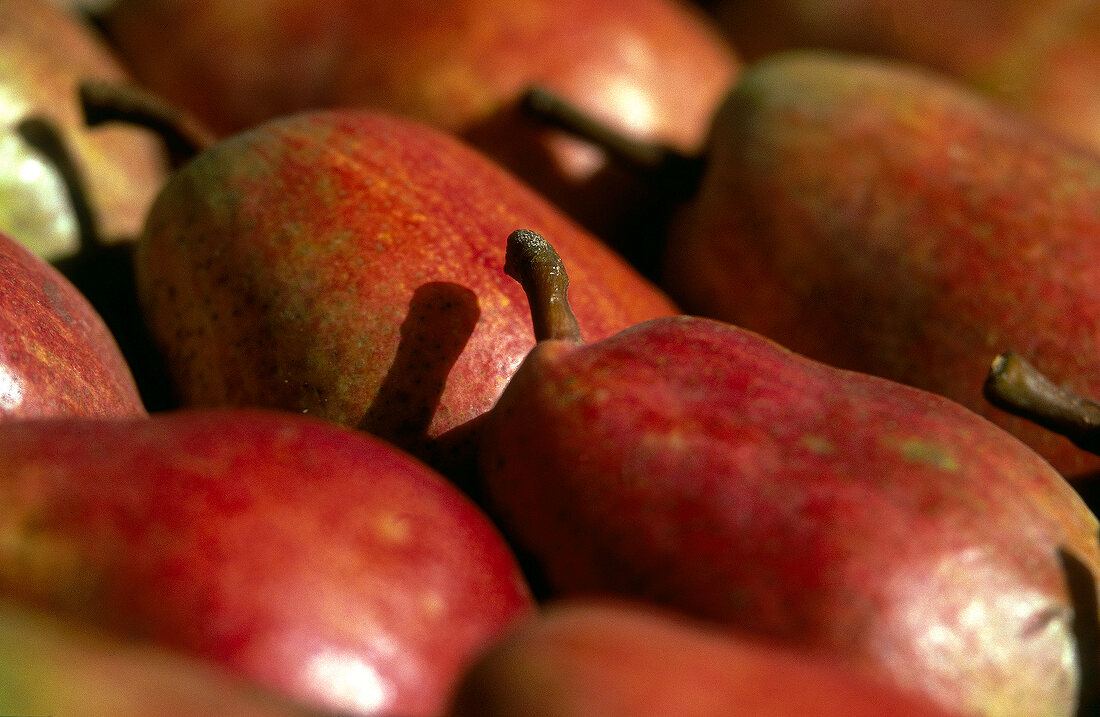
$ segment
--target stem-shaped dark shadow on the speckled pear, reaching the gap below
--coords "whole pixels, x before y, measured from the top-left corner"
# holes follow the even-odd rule
[[[439,408],[447,377],[474,332],[477,295],[460,284],[431,282],[409,300],[394,362],[359,429],[420,456],[470,490],[474,427],[459,427],[436,439],[428,429]]]

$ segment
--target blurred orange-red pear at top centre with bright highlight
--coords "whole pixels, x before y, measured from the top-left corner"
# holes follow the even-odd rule
[[[462,134],[602,236],[645,209],[639,184],[537,131],[515,111],[519,93],[548,85],[693,152],[738,68],[682,0],[134,0],[103,24],[142,81],[219,131],[302,109],[387,110]]]

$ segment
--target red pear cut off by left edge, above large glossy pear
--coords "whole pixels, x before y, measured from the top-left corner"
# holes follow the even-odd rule
[[[0,233],[0,423],[145,415],[95,308],[61,273]]]

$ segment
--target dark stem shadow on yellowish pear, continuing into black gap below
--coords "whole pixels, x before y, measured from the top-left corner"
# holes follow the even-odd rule
[[[130,366],[145,409],[178,406],[167,369],[145,330],[133,273],[133,241],[102,241],[87,186],[65,139],[50,120],[26,118],[16,131],[62,177],[79,230],[79,250],[53,265],[95,307]]]

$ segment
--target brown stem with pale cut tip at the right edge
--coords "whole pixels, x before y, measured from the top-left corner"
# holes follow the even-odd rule
[[[1100,402],[1056,385],[1020,354],[993,360],[982,393],[993,406],[1100,455]]]

